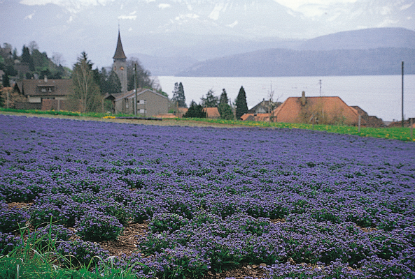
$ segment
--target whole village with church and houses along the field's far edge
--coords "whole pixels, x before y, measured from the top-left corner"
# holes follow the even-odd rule
[[[3,47],[0,48],[0,56],[0,59],[3,59],[3,57],[10,58],[15,54],[9,48]],[[29,63],[20,61],[16,62],[15,68],[18,72],[15,80],[10,79],[4,70],[0,70],[0,101],[3,107],[13,107],[18,110],[76,110],[76,107],[73,107],[73,100],[69,100],[73,93],[73,80],[50,78],[53,77],[52,73],[49,73],[50,77],[43,75],[41,79],[25,78],[25,73],[29,72]],[[196,104],[192,102],[188,108],[184,103],[183,92],[182,95],[180,92],[173,92],[173,98],[169,99],[166,93],[153,88],[138,87],[127,90],[129,82],[127,80],[127,56],[122,48],[120,32],[113,55],[112,71],[118,76],[120,90],[117,93],[105,93],[102,96],[102,111],[109,110],[113,114],[135,114],[158,118],[195,116],[190,111],[195,110]],[[225,98],[225,104],[228,106],[226,93]],[[200,115],[209,119],[236,118],[242,121],[386,127],[386,123],[377,116],[368,115],[358,106],[349,106],[337,96],[309,97],[303,91],[299,92],[299,96],[289,97],[283,103],[273,102],[272,98],[264,99],[250,110],[246,106],[246,96],[244,98],[245,100],[239,100],[245,102],[244,105],[238,105],[238,100],[233,106],[232,102],[229,102],[226,117],[219,102],[212,106],[209,106],[209,102],[203,102],[199,105],[199,110],[202,110]],[[241,107],[244,109],[241,110]],[[409,121],[406,122],[405,126],[409,126]],[[401,122],[389,124],[389,126],[400,125]]]

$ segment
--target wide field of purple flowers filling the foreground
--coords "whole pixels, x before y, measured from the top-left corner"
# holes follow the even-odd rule
[[[415,278],[414,199],[413,142],[0,115],[3,255],[19,225],[52,221],[62,254],[138,278],[241,264],[267,278]],[[133,255],[97,244],[144,220]]]

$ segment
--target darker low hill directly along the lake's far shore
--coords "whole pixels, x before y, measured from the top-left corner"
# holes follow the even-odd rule
[[[270,49],[200,62],[178,73],[188,77],[283,77],[314,75],[415,74],[415,49],[370,50]]]

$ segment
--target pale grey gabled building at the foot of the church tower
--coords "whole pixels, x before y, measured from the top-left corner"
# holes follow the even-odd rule
[[[134,114],[134,90],[127,93],[109,94],[106,100],[113,102],[113,113]],[[137,114],[141,116],[155,116],[169,112],[169,98],[150,89],[137,92]]]

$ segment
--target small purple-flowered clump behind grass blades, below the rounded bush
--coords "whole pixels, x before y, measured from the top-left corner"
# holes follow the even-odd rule
[[[60,257],[61,264],[67,267],[88,266],[88,264],[93,267],[101,259],[109,257],[108,251],[102,250],[99,244],[81,240],[59,243],[57,255]]]

